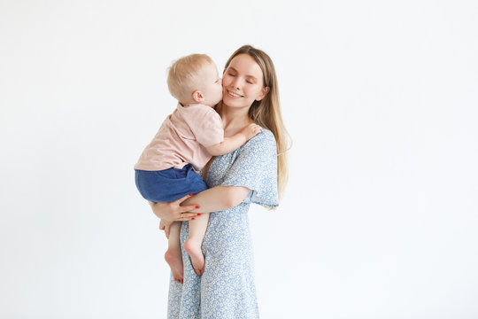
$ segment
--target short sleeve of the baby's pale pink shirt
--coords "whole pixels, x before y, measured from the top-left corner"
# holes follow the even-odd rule
[[[224,141],[224,128],[220,114],[214,111],[212,107],[203,106],[201,112],[195,114],[192,123],[189,127],[196,137],[197,143],[204,147],[220,144]]]

